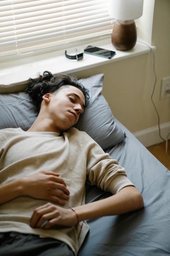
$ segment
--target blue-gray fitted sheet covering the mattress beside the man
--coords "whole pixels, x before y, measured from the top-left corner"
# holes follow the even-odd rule
[[[144,208],[87,220],[78,256],[170,255],[170,171],[118,120],[126,138],[105,152],[118,160],[144,199]],[[86,203],[112,196],[86,184]]]

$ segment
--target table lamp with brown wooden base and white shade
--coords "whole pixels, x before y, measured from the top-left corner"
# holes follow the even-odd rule
[[[135,19],[143,14],[144,0],[109,0],[108,13],[115,18],[112,44],[117,50],[132,49],[137,40]]]

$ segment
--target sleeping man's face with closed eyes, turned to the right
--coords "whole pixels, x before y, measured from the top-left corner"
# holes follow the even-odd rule
[[[84,112],[85,97],[78,88],[71,85],[69,88],[61,89],[56,95],[45,94],[43,99],[43,106],[46,106],[49,114],[50,126],[55,127],[58,132],[74,126],[80,114]],[[76,118],[71,112],[76,114]]]

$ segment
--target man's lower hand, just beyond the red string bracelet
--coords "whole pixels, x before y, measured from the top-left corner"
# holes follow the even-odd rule
[[[36,208],[30,219],[32,228],[40,228],[41,225],[49,220],[44,229],[49,229],[53,225],[71,227],[78,223],[76,214],[71,209],[65,209],[51,203]]]

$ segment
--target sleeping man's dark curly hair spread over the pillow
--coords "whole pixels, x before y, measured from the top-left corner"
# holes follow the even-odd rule
[[[70,77],[65,74],[58,73],[55,77],[49,71],[44,71],[43,76],[37,74],[37,78],[28,79],[28,87],[25,93],[29,94],[30,98],[35,102],[35,105],[40,111],[42,96],[47,93],[57,94],[61,89],[68,88],[70,85],[77,87],[85,97],[85,108],[89,105],[89,90],[78,82],[76,77]]]

